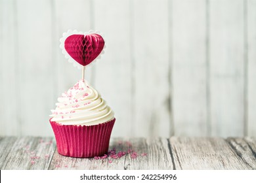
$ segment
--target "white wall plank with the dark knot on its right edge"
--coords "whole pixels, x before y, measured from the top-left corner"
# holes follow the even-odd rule
[[[160,21],[161,20],[161,21]],[[169,137],[168,4],[133,1],[132,137]]]

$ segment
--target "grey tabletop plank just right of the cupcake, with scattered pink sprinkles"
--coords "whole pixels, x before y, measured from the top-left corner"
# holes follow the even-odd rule
[[[167,139],[131,139],[130,142],[138,157],[133,159],[133,154],[128,154],[125,158],[125,169],[173,169]],[[146,156],[143,156],[145,153]]]

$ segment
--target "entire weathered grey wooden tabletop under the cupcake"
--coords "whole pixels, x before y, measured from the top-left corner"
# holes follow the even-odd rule
[[[256,169],[253,137],[113,138],[113,149],[123,156],[70,158],[54,137],[0,137],[0,169]]]

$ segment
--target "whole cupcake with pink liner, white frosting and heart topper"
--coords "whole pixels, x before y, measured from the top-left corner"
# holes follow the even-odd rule
[[[66,57],[81,65],[82,79],[58,97],[56,109],[50,115],[58,153],[75,158],[102,156],[108,152],[116,118],[100,93],[84,80],[84,69],[98,58],[104,40],[96,33],[68,31],[60,47]]]

